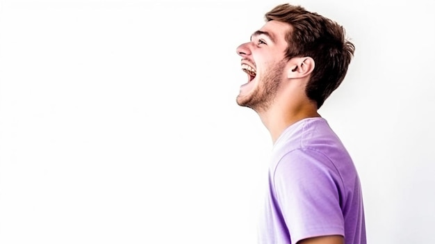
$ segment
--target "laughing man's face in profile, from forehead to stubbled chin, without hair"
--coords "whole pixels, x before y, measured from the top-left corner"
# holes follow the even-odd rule
[[[272,20],[255,31],[250,42],[237,48],[237,54],[242,57],[242,70],[247,73],[247,82],[240,86],[236,99],[240,106],[264,110],[274,99],[279,84],[286,79],[284,56],[288,31],[289,24]]]

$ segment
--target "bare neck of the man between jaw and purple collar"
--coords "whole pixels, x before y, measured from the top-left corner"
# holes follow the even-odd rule
[[[321,117],[317,106],[312,101],[299,102],[297,104],[283,106],[281,103],[273,104],[267,111],[257,111],[261,122],[268,129],[274,144],[281,133],[299,120],[308,117]]]

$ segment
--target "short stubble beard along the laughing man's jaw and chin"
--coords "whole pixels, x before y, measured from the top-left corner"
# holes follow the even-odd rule
[[[247,97],[238,95],[237,104],[252,108],[257,113],[267,111],[277,95],[285,66],[286,63],[281,60],[268,68],[263,77],[258,77],[258,86],[254,88],[252,94]]]

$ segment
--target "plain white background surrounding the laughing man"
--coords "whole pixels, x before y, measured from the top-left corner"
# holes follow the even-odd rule
[[[0,243],[255,243],[272,142],[236,47],[282,1],[1,1]],[[368,243],[435,243],[429,1],[293,1],[356,53],[320,109]]]

